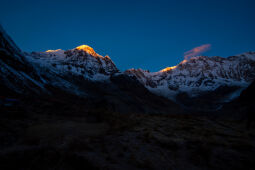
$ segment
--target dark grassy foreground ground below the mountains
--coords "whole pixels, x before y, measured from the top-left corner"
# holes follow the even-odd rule
[[[245,120],[118,114],[78,100],[26,102],[1,107],[0,169],[255,167],[255,130],[247,131]]]

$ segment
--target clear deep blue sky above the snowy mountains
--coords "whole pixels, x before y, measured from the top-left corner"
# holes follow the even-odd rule
[[[158,71],[204,55],[255,51],[254,0],[1,0],[0,23],[24,51],[90,45],[121,69]]]

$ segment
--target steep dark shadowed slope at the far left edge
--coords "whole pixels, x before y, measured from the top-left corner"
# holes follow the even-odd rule
[[[1,95],[33,94],[45,91],[34,68],[0,26]]]

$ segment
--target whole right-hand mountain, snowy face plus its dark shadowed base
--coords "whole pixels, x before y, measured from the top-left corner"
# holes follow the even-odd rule
[[[227,58],[193,57],[159,72],[130,69],[125,74],[135,76],[154,94],[189,108],[217,109],[240,95],[255,79],[254,71],[255,53],[248,52]]]

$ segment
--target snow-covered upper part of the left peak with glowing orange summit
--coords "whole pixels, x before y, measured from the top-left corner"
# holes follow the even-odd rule
[[[82,76],[89,80],[106,80],[119,72],[109,56],[97,54],[91,47],[81,45],[71,50],[48,50],[26,53],[32,63],[59,75]]]

